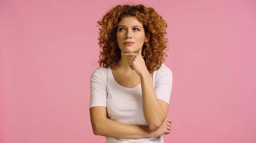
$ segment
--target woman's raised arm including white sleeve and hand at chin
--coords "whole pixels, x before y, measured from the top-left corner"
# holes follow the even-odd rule
[[[172,71],[166,66],[161,67],[157,72],[156,84],[153,87],[141,51],[142,48],[138,50],[138,53],[122,53],[122,55],[129,56],[128,64],[140,76],[143,115],[149,129],[155,130],[162,125],[167,115],[172,91]]]

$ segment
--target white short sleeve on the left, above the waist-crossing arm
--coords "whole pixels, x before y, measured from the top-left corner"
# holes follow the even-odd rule
[[[107,72],[105,67],[98,67],[90,78],[90,105],[91,107],[107,107]]]

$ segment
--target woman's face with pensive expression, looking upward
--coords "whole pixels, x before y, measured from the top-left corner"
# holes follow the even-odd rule
[[[118,23],[116,38],[121,53],[136,53],[148,42],[143,25],[136,17],[125,17]]]

